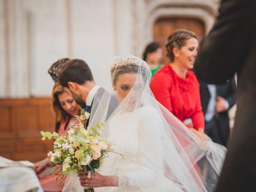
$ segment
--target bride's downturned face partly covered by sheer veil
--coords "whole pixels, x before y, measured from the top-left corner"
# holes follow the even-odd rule
[[[120,74],[116,80],[116,84],[113,84],[113,88],[116,89],[117,97],[120,103],[132,90],[125,100],[125,102],[128,104],[128,108],[130,109],[134,108],[142,92],[143,84],[142,82],[140,83],[140,80],[138,80],[140,78],[136,78],[137,76],[141,75],[134,73]]]

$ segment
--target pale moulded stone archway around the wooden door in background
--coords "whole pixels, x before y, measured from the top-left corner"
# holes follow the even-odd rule
[[[140,29],[142,29],[142,36],[138,37],[135,46],[135,53],[141,54],[144,46],[154,39],[153,27],[159,18],[191,18],[202,21],[205,27],[206,34],[210,31],[214,24],[214,19],[218,15],[219,0],[163,0],[151,1],[145,8],[147,14],[140,20]],[[136,22],[136,20],[135,20]]]

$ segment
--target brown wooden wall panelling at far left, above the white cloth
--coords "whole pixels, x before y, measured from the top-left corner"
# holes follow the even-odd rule
[[[0,156],[37,162],[53,149],[40,131],[53,132],[51,98],[0,99]]]

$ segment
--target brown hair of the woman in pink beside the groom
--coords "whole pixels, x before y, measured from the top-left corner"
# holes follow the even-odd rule
[[[56,114],[57,122],[64,122],[68,113],[62,108],[58,95],[65,92],[64,88],[60,85],[59,82],[56,82],[52,90],[52,106]]]

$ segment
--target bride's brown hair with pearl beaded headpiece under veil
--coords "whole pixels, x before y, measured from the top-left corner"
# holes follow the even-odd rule
[[[115,85],[120,74],[134,73],[137,74],[140,68],[142,77],[146,80],[148,64],[134,56],[120,57],[114,61],[114,64],[110,67],[110,74],[112,83]],[[113,75],[114,74],[114,75]]]

